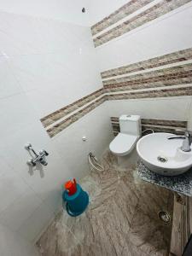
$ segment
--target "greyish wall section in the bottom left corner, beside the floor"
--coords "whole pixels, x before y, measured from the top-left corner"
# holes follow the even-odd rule
[[[38,256],[36,249],[30,243],[1,224],[0,247],[2,256]]]

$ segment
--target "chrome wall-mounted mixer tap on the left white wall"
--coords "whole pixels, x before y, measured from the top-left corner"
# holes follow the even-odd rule
[[[46,161],[45,156],[49,155],[49,153],[46,150],[42,149],[37,154],[35,152],[35,150],[32,148],[31,143],[26,144],[25,148],[26,148],[27,151],[30,152],[31,155],[33,154],[32,158],[27,160],[27,162],[26,162],[28,166],[36,166],[37,163],[40,163],[43,166],[48,165],[48,162]]]

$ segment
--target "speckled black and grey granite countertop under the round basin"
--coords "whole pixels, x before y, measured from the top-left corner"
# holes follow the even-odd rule
[[[178,176],[161,176],[149,171],[141,162],[137,167],[137,173],[144,181],[171,189],[183,195],[192,196],[192,169]]]

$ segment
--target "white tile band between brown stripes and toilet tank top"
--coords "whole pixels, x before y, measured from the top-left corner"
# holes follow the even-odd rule
[[[107,102],[110,116],[139,114],[143,119],[189,120],[192,96]]]

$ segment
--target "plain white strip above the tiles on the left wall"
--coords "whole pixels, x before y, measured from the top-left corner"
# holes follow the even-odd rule
[[[87,10],[84,14],[82,8]],[[44,17],[52,20],[62,20],[77,25],[89,24],[89,1],[87,0],[0,0],[0,10],[17,15]]]

